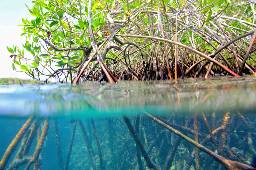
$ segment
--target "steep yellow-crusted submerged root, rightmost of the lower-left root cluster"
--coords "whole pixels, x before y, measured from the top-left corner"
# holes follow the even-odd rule
[[[42,131],[42,135],[40,136],[40,139],[36,145],[36,149],[33,154],[33,159],[30,160],[25,168],[25,170],[29,170],[31,164],[34,164],[38,161],[38,157],[40,155],[40,152],[42,150],[43,144],[44,144],[44,139],[46,138],[46,135],[49,131],[49,118],[44,119],[44,127]]]

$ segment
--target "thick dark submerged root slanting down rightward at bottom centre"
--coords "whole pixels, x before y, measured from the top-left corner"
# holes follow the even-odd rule
[[[146,152],[142,142],[140,141],[137,133],[135,132],[134,128],[132,127],[132,123],[130,122],[130,120],[128,119],[128,117],[123,116],[124,122],[126,123],[134,141],[136,142],[136,144],[138,145],[140,152],[142,154],[142,156],[144,157],[148,168],[152,168],[154,170],[160,170],[160,168],[151,160],[150,156],[148,155],[148,153]]]

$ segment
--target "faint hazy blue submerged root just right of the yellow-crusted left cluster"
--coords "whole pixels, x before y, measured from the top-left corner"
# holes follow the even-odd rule
[[[55,130],[55,137],[56,137],[56,151],[57,151],[58,167],[59,167],[59,170],[64,170],[61,147],[60,147],[60,134],[59,134],[57,120],[54,120],[54,130]]]

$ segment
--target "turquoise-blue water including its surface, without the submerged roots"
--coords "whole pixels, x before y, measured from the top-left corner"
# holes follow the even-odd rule
[[[198,114],[198,132],[209,135],[201,112],[203,111],[212,131],[222,126],[226,112],[230,112],[226,146],[237,153],[237,160],[230,155],[218,153],[226,159],[250,164],[253,153],[248,145],[250,131],[252,146],[256,147],[256,78],[251,76],[232,78],[228,76],[205,79],[185,79],[175,81],[153,82],[120,82],[110,85],[91,82],[71,86],[69,84],[16,84],[0,86],[0,158],[12,143],[30,115],[41,120],[43,129],[45,117],[50,118],[48,135],[42,147],[42,170],[58,170],[56,154],[56,137],[54,120],[58,121],[60,147],[65,166],[67,152],[76,117],[81,118],[89,141],[95,154],[97,170],[100,170],[98,148],[91,124],[94,120],[100,147],[102,149],[105,170],[138,170],[136,144],[122,118],[128,116],[135,127],[136,115],[140,117],[139,138],[148,150],[150,145],[161,134],[149,155],[152,161],[162,170],[165,169],[168,152],[179,138],[167,131],[158,123],[144,115],[160,115],[171,123],[184,126],[194,113]],[[238,115],[241,113],[250,129]],[[214,118],[214,114],[216,117]],[[70,123],[71,122],[71,123]],[[194,129],[194,121],[189,128]],[[174,127],[176,129],[176,127]],[[177,129],[181,131],[181,129]],[[194,140],[194,135],[182,132]],[[221,145],[221,132],[216,135]],[[37,137],[37,136],[36,136]],[[28,156],[32,156],[37,145],[36,137],[30,147]],[[199,143],[204,138],[199,138]],[[21,141],[20,141],[21,143]],[[7,166],[14,159],[17,150],[10,157]],[[204,145],[215,151],[212,141]],[[194,146],[182,140],[175,154],[171,169],[184,169],[190,159]],[[143,169],[148,169],[141,155]],[[218,162],[204,152],[200,152],[201,169],[224,169]],[[25,165],[19,169],[24,169]],[[191,166],[191,170],[193,169]],[[33,165],[30,167],[33,169]],[[92,170],[92,162],[79,123],[71,152],[68,169]]]

